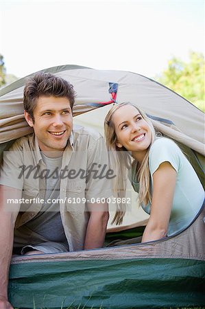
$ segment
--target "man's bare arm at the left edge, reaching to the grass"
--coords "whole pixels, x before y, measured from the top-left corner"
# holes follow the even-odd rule
[[[20,205],[8,205],[8,198],[21,198],[21,190],[0,185],[0,196],[0,308],[12,309],[8,302],[8,273],[12,258],[14,225]],[[15,209],[12,209],[12,206],[15,206]]]

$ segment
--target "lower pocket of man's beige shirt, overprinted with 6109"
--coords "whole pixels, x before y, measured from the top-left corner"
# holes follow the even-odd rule
[[[69,212],[82,213],[85,209],[86,183],[82,180],[69,181],[66,190],[66,209]]]

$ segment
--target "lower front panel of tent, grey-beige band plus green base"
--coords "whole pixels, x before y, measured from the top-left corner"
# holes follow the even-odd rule
[[[10,301],[21,308],[203,306],[204,216],[205,209],[177,236],[146,244],[13,258]]]

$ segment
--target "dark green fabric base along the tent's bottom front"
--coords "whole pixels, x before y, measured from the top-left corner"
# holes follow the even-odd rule
[[[178,308],[204,305],[204,262],[138,258],[12,266],[17,308]],[[35,305],[35,306],[34,306]]]

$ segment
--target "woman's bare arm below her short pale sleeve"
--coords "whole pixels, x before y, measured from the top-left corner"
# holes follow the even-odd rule
[[[142,242],[158,240],[167,236],[176,175],[176,170],[169,162],[161,163],[154,172],[151,212]]]

